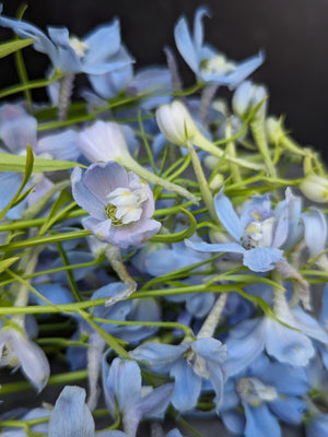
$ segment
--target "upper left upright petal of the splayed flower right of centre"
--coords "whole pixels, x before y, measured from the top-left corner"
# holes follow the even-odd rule
[[[235,213],[230,199],[221,190],[214,196],[214,208],[220,222],[235,240],[239,241],[243,234],[243,224]]]

